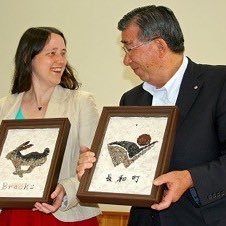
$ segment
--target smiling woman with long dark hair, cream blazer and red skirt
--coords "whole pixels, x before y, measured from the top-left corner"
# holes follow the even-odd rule
[[[3,209],[1,226],[98,225],[100,211],[78,202],[74,176],[79,147],[90,146],[98,113],[93,97],[78,90],[66,53],[64,35],[56,28],[30,28],[20,39],[12,95],[0,100],[0,120],[67,117],[71,129],[53,203],[37,202],[32,210]]]

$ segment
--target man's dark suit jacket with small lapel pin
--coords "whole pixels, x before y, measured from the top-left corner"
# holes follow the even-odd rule
[[[151,103],[152,95],[142,84],[124,93],[120,101],[120,105],[132,106]],[[133,207],[129,225],[152,226],[159,217],[161,224],[156,225],[161,226],[225,226],[226,67],[195,64],[189,59],[176,105],[180,117],[170,171],[191,172],[200,205],[187,191],[160,212]]]

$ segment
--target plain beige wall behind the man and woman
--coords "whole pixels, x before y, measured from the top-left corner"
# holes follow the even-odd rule
[[[69,61],[83,89],[95,95],[99,111],[118,105],[122,93],[140,81],[122,64],[117,22],[129,10],[150,3],[175,12],[184,32],[186,55],[192,60],[226,64],[225,0],[0,0],[0,97],[9,93],[22,33],[31,26],[55,26],[64,32]]]

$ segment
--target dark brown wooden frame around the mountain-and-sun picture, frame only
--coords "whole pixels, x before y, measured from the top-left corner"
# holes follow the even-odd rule
[[[164,132],[163,142],[160,155],[155,171],[155,178],[166,173],[169,168],[170,157],[174,144],[174,136],[176,131],[178,108],[175,106],[159,106],[159,107],[104,107],[99,124],[95,133],[95,137],[91,146],[91,150],[95,152],[97,161],[103,144],[103,139],[111,117],[167,117],[167,125]],[[86,170],[83,175],[77,192],[77,197],[81,202],[88,203],[106,203],[117,205],[132,205],[141,207],[150,207],[152,203],[161,200],[163,194],[163,186],[153,185],[150,195],[126,194],[126,193],[109,193],[109,192],[93,192],[89,191],[92,176],[95,171],[96,163],[90,170]],[[149,163],[147,163],[149,164]]]

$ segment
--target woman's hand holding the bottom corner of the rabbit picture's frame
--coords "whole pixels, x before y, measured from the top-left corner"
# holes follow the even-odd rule
[[[53,199],[52,205],[48,203],[36,202],[32,210],[33,211],[39,210],[46,214],[54,213],[61,207],[65,194],[66,193],[64,187],[61,184],[58,184],[55,191],[51,194],[51,198]]]

